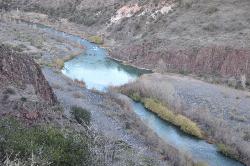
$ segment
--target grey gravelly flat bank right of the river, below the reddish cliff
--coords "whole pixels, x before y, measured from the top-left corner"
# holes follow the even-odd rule
[[[249,164],[249,92],[157,73],[144,75],[121,91],[135,99],[157,100],[173,114],[184,115],[205,131],[205,139],[218,143],[225,155]]]

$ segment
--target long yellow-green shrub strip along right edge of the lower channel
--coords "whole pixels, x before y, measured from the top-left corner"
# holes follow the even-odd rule
[[[195,122],[187,117],[174,114],[166,106],[157,100],[151,98],[142,99],[144,106],[150,111],[156,113],[160,118],[180,127],[182,131],[198,138],[203,138],[202,130],[196,125]]]

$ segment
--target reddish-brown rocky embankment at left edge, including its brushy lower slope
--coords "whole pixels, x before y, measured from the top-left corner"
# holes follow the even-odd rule
[[[0,52],[0,114],[41,118],[57,99],[40,67],[31,57],[4,45]]]

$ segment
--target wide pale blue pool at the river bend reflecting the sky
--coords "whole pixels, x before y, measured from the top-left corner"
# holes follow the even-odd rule
[[[83,40],[82,44],[86,51],[66,62],[62,72],[72,79],[84,81],[89,89],[103,91],[110,85],[123,85],[145,72],[108,58],[104,49],[88,41]]]

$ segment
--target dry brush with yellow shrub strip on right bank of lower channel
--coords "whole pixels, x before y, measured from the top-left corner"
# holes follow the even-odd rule
[[[146,108],[162,119],[179,126],[184,132],[217,142],[221,153],[248,163],[248,115],[240,114],[236,110],[214,115],[208,109],[188,109],[176,92],[178,88],[173,84],[171,79],[165,80],[159,74],[152,77],[144,75],[119,89],[134,100],[144,103]],[[240,99],[234,99],[240,103]],[[228,119],[222,117],[225,115]]]

